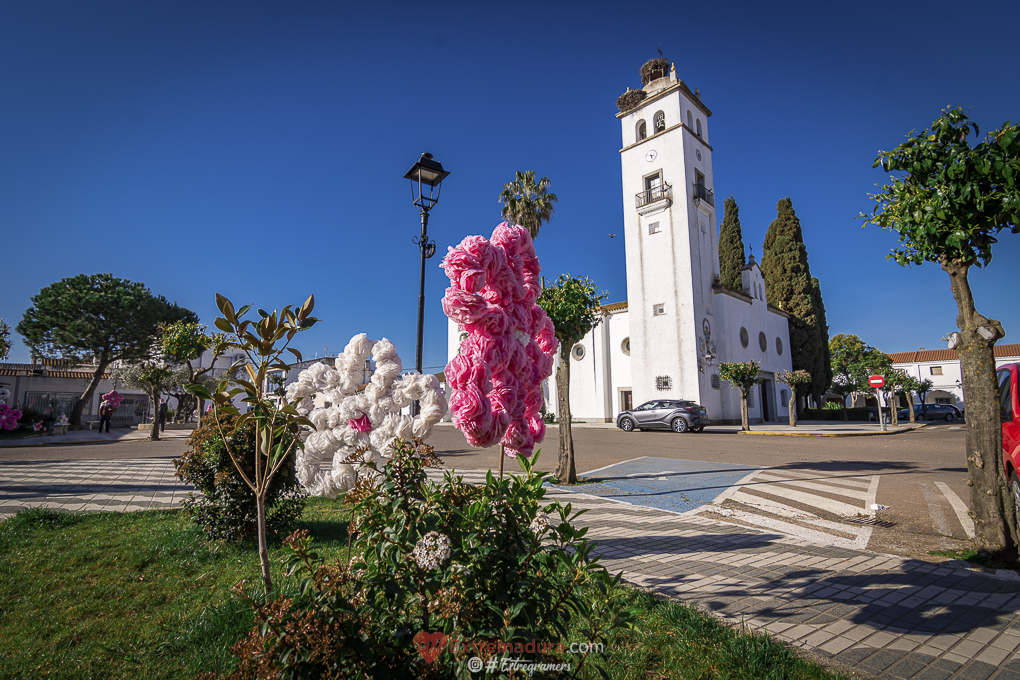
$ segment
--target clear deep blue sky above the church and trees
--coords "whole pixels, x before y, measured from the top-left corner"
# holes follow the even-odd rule
[[[654,8],[654,9],[653,9]],[[949,277],[885,260],[858,213],[871,167],[941,108],[1020,118],[1015,2],[0,2],[0,317],[111,272],[213,321],[214,294],[316,298],[307,355],[388,336],[413,365],[418,215],[404,172],[452,172],[432,211],[424,365],[446,363],[448,246],[488,236],[515,170],[559,196],[547,276],[626,297],[616,98],[663,53],[714,115],[715,194],[761,253],[789,196],[830,334],[945,347]],[[628,196],[633,190],[628,190]],[[629,204],[628,204],[629,205]],[[1020,342],[1020,237],[972,270],[978,310]],[[1015,335],[1014,335],[1015,333]],[[10,361],[28,361],[15,335]]]

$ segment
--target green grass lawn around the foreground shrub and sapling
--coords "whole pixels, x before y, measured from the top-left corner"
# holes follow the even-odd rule
[[[337,502],[310,499],[300,528],[323,557],[346,552]],[[251,627],[250,613],[230,593],[241,579],[259,578],[255,547],[208,541],[180,511],[29,511],[0,522],[0,678],[228,672],[228,647]],[[611,678],[843,677],[708,614],[638,590],[629,597],[641,610],[640,630],[615,635],[605,656],[593,659]]]

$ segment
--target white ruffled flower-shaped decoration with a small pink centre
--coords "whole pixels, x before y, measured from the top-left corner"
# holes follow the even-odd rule
[[[371,357],[375,372],[364,391],[358,393],[365,360]],[[424,439],[432,425],[447,412],[446,395],[435,375],[400,374],[397,349],[387,338],[368,339],[355,335],[334,362],[312,364],[287,386],[287,399],[300,400],[298,412],[307,415],[316,430],[305,440],[296,461],[297,477],[311,495],[335,499],[350,490],[359,474],[374,474],[371,468],[347,462],[359,450],[367,449],[364,460],[381,467],[391,457],[391,446],[401,438]],[[313,408],[312,398],[321,395],[332,404]],[[400,410],[418,400],[417,416],[401,415]],[[333,457],[333,469],[323,471],[322,459]]]

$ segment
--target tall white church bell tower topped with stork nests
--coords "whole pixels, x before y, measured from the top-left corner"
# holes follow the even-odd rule
[[[712,285],[718,231],[708,118],[712,112],[664,57],[617,100],[634,405],[696,401],[722,408],[712,384]]]

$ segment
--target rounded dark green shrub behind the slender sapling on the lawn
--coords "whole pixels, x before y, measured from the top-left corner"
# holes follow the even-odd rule
[[[220,414],[217,426],[211,413],[203,416],[188,439],[190,451],[173,461],[176,476],[201,492],[190,493],[182,502],[189,515],[210,538],[234,541],[258,535],[255,493],[238,472],[220,434],[221,428],[238,453],[245,474],[254,479],[255,429],[251,424],[236,427],[236,416]],[[274,535],[290,531],[301,517],[304,499],[294,466],[285,464],[269,484],[265,499],[266,530]]]

